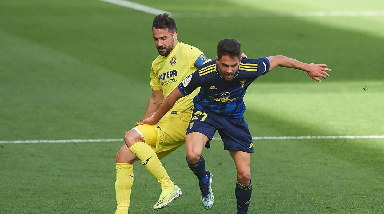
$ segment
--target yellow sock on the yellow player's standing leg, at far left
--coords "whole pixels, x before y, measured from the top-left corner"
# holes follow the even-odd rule
[[[133,164],[116,163],[116,203],[115,214],[128,214],[131,188],[133,184]]]

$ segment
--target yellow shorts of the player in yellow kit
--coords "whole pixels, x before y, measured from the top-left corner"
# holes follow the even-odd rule
[[[163,158],[185,143],[185,133],[191,113],[165,114],[155,125],[144,124],[134,127],[144,137],[146,144]]]

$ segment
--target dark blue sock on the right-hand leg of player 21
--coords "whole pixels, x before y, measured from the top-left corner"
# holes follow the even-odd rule
[[[248,213],[248,207],[252,195],[252,181],[248,186],[243,186],[237,180],[235,193],[237,199],[237,214]]]

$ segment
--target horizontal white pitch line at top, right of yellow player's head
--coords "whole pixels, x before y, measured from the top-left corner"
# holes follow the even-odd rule
[[[172,13],[177,17],[326,17],[326,16],[384,16],[384,10],[362,10],[362,11],[304,11],[304,12],[277,12],[277,13],[215,13],[215,12],[183,12]]]

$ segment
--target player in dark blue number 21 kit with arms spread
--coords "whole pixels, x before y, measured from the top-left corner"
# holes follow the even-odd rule
[[[321,82],[326,78],[324,64],[306,64],[285,56],[271,56],[259,59],[240,57],[240,43],[234,39],[223,39],[217,45],[216,60],[205,62],[193,74],[185,78],[161,104],[159,110],[139,124],[156,124],[175,102],[200,87],[194,98],[192,118],[187,128],[185,153],[189,168],[200,183],[201,199],[205,209],[214,202],[212,173],[205,170],[202,150],[209,148],[215,132],[218,131],[237,170],[235,195],[237,213],[247,213],[252,194],[250,153],[253,152],[252,136],[243,118],[245,105],[243,97],[248,86],[261,75],[277,66],[304,70]]]

